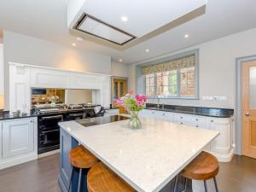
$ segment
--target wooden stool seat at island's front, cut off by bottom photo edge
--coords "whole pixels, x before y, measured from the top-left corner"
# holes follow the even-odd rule
[[[99,162],[90,168],[87,175],[87,189],[89,192],[136,191],[102,162]]]

